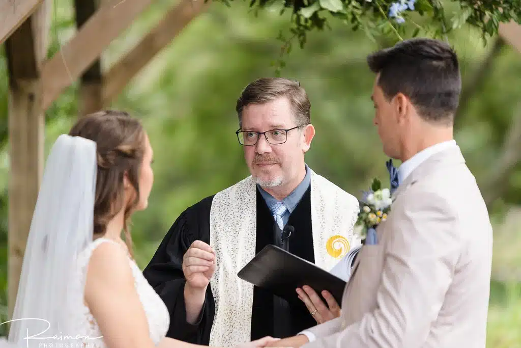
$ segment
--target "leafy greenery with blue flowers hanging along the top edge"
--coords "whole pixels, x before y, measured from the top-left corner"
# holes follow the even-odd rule
[[[232,0],[220,0],[230,5]],[[280,14],[291,11],[290,33],[280,33],[279,67],[282,56],[297,41],[304,47],[306,34],[329,28],[340,20],[353,30],[363,30],[369,38],[394,35],[396,40],[416,37],[446,39],[453,30],[469,25],[478,29],[483,41],[497,34],[500,23],[521,22],[521,0],[251,0],[255,11],[278,7]]]

